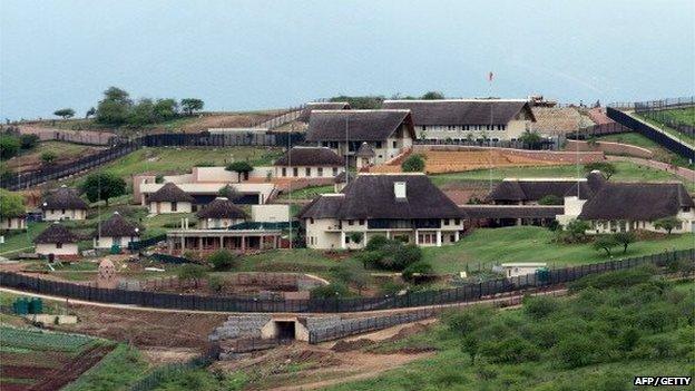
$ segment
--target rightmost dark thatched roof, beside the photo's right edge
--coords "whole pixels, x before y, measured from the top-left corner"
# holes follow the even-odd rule
[[[652,222],[695,203],[679,183],[607,183],[581,208],[581,219]]]

